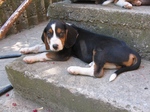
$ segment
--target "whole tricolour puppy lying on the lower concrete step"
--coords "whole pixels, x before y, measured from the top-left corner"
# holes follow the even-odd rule
[[[43,45],[20,50],[23,54],[49,50],[49,52],[24,57],[26,63],[46,60],[65,61],[75,56],[90,63],[90,67],[70,66],[67,69],[70,74],[101,78],[104,69],[117,69],[110,76],[109,81],[113,81],[123,72],[138,69],[141,63],[140,55],[130,49],[125,42],[63,21],[49,22],[43,31],[42,41]]]

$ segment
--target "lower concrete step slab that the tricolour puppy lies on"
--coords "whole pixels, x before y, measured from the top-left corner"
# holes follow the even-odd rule
[[[114,70],[101,79],[73,76],[70,65],[86,66],[76,58],[64,62],[26,64],[22,57],[6,66],[13,87],[22,96],[51,107],[54,112],[149,112],[150,63],[108,82]]]

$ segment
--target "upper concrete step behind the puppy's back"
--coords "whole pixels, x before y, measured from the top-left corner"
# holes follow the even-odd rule
[[[61,19],[85,29],[126,41],[141,56],[150,60],[150,7],[132,10],[115,5],[71,4],[59,2],[48,8],[51,19]]]

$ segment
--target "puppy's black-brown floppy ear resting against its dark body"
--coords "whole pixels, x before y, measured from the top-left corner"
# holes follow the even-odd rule
[[[72,26],[66,24],[66,34],[67,34],[67,38],[65,42],[65,47],[70,48],[76,42],[78,32]]]

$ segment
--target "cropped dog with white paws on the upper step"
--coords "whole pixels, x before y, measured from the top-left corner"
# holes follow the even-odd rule
[[[131,9],[134,6],[150,5],[150,0],[95,0],[96,4],[108,5],[114,3],[117,6]]]

